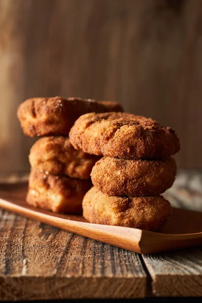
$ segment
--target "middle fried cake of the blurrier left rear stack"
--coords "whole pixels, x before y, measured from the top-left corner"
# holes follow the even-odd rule
[[[90,179],[93,165],[99,156],[75,149],[68,137],[42,137],[30,149],[29,162],[33,169],[53,175]]]

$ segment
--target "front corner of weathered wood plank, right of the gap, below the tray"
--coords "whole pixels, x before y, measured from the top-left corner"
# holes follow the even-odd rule
[[[156,296],[202,295],[202,249],[144,255]]]

